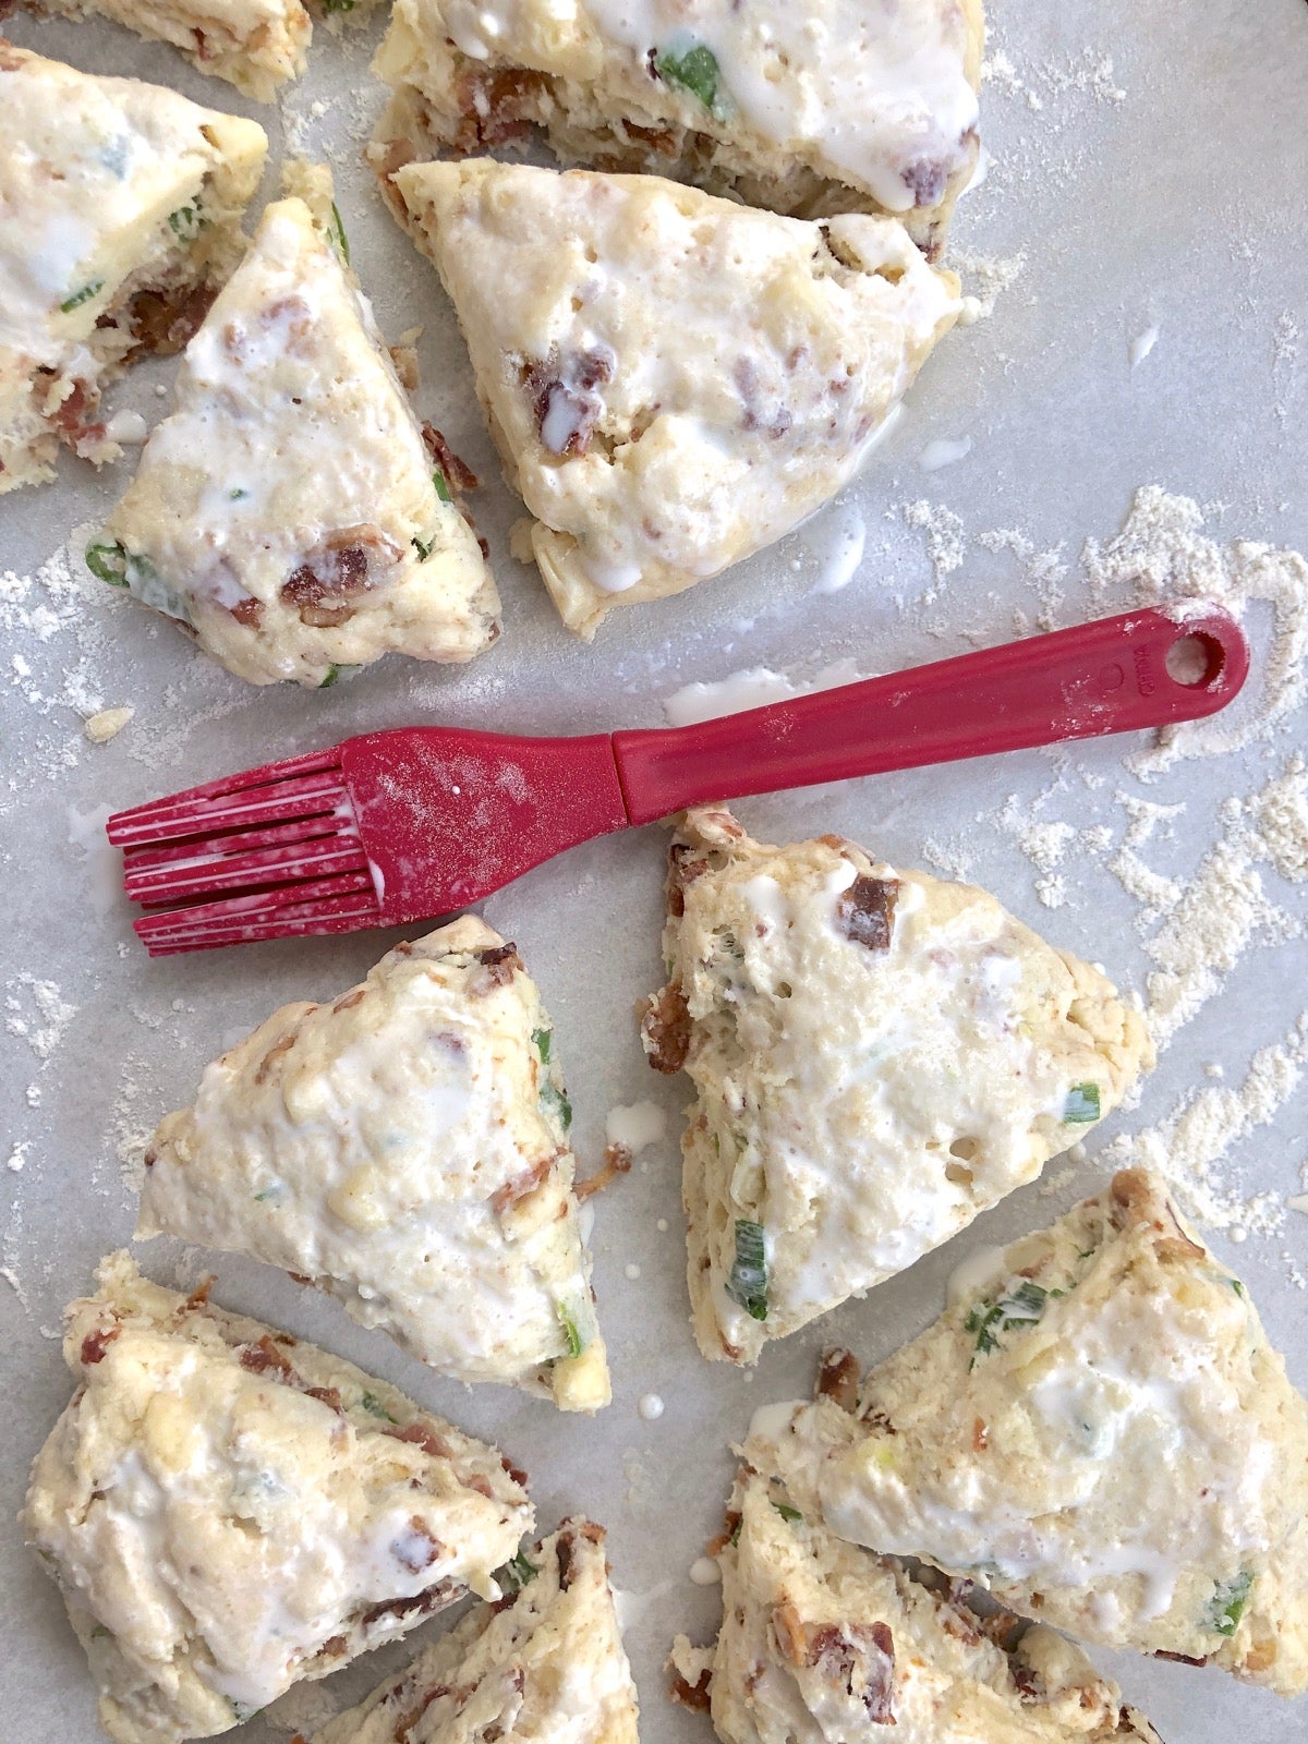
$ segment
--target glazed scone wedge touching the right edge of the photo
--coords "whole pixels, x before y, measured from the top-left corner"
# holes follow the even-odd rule
[[[1132,1170],[971,1268],[823,1461],[841,1536],[1087,1641],[1308,1688],[1308,1404],[1249,1292]]]

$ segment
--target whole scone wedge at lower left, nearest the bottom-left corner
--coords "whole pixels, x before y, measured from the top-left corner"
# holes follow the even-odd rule
[[[127,1254],[68,1310],[65,1359],[77,1392],[23,1528],[115,1744],[227,1732],[467,1591],[494,1599],[532,1526],[495,1448]]]

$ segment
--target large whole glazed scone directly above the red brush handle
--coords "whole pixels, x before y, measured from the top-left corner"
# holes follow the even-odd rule
[[[453,298],[530,555],[586,638],[813,514],[959,310],[893,218],[488,159],[384,188]]]

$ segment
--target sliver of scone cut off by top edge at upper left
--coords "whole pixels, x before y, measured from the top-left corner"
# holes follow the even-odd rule
[[[138,37],[169,42],[192,66],[272,103],[277,85],[298,78],[314,33],[300,0],[26,0],[33,12],[110,17]],[[352,7],[352,0],[347,0]],[[316,10],[337,10],[335,5]]]

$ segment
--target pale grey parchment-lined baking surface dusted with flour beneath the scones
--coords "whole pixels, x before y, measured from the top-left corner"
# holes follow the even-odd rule
[[[984,91],[994,164],[963,202],[952,244],[956,260],[971,260],[971,288],[992,298],[992,312],[942,347],[896,431],[834,509],[692,595],[617,614],[589,649],[562,630],[535,574],[509,558],[518,509],[499,480],[453,319],[434,274],[392,227],[359,166],[377,101],[366,78],[373,38],[319,28],[310,73],[279,115],[112,26],[10,19],[17,42],[92,72],[171,84],[256,115],[274,143],[279,136],[328,153],[384,330],[394,338],[424,324],[422,413],[483,476],[476,513],[504,593],[506,635],[471,670],[391,659],[324,694],[246,689],[162,619],[59,556],[70,535],[80,549],[84,525],[115,501],[131,453],[101,474],[65,460],[56,487],[0,502],[5,1519],[21,1505],[31,1454],[68,1399],[59,1311],[87,1287],[99,1256],[131,1235],[131,1172],[148,1130],[190,1097],[204,1062],[276,1003],[330,998],[396,937],[150,964],[115,896],[113,858],[99,846],[98,821],[110,807],[368,727],[420,719],[546,732],[654,726],[680,687],[745,668],[794,682],[837,663],[884,671],[1039,623],[1114,610],[1139,595],[1128,579],[1137,558],[1107,541],[1141,487],[1196,506],[1186,535],[1175,504],[1155,501],[1155,521],[1172,511],[1170,534],[1142,558],[1158,574],[1174,556],[1181,579],[1205,567],[1226,574],[1240,539],[1308,549],[1308,363],[1299,340],[1308,290],[1308,9],[1301,0],[1224,0],[1198,12],[1137,0],[1010,0],[996,12]],[[263,192],[276,192],[272,174]],[[173,368],[140,368],[110,405],[153,420],[164,406],[157,389]],[[940,471],[921,467],[928,445],[964,438],[966,457]],[[1198,516],[1214,551],[1198,542]],[[834,579],[841,544],[860,537],[853,581],[814,591]],[[1090,574],[1087,541],[1099,542]],[[1250,553],[1233,562],[1257,586]],[[1128,767],[1142,741],[1099,743],[739,806],[766,839],[839,830],[893,862],[966,870],[1055,944],[1104,963],[1141,992],[1158,970],[1144,947],[1155,940],[1158,949],[1160,926],[1184,937],[1193,916],[1191,945],[1198,942],[1200,957],[1209,952],[1216,989],[1174,1036],[1139,1107],[1095,1132],[1088,1160],[1052,1163],[1043,1186],[1013,1195],[870,1299],[771,1348],[757,1374],[710,1369],[687,1325],[677,1179],[687,1085],[645,1067],[633,1022],[635,1001],[659,980],[657,828],[577,849],[485,909],[518,942],[553,1010],[582,1172],[600,1160],[610,1107],[652,1099],[666,1111],[664,1142],[644,1151],[596,1205],[595,1282],[614,1367],[612,1409],[581,1421],[508,1392],[466,1390],[267,1268],[167,1242],[141,1249],[153,1275],[194,1280],[213,1268],[223,1303],[316,1338],[497,1439],[530,1470],[542,1528],[577,1509],[603,1521],[647,1744],[708,1737],[701,1720],[664,1700],[661,1660],[675,1631],[705,1638],[713,1627],[717,1591],[696,1587],[689,1570],[719,1529],[727,1442],[743,1434],[752,1409],[806,1392],[814,1353],[828,1341],[848,1341],[874,1360],[928,1324],[957,1259],[980,1242],[1050,1221],[1092,1191],[1095,1156],[1114,1135],[1162,1127],[1160,1155],[1170,1153],[1174,1167],[1177,1155],[1202,1160],[1203,1146],[1189,1142],[1195,1134],[1181,1146],[1167,1121],[1186,1099],[1209,1097],[1191,1125],[1203,1127],[1200,1137],[1217,1153],[1209,1200],[1219,1217],[1235,1219],[1209,1230],[1210,1240],[1249,1280],[1292,1378],[1308,1386],[1299,1271],[1308,1271],[1308,1216],[1285,1203],[1303,1191],[1299,1170],[1308,1163],[1296,1078],[1305,1050],[1294,1032],[1308,1003],[1305,884],[1245,856],[1240,865],[1259,882],[1261,907],[1249,877],[1217,907],[1200,900],[1221,882],[1209,874],[1198,893],[1179,895],[1196,870],[1210,869],[1214,842],[1236,839],[1240,818],[1256,818],[1233,813],[1230,800],[1256,795],[1305,745],[1303,712],[1289,705],[1296,659],[1306,657],[1292,637],[1298,624],[1303,638],[1308,586],[1299,581],[1296,607],[1292,565],[1273,560],[1271,572],[1282,589],[1287,712],[1278,731],[1243,750],[1184,757],[1144,781]],[[1270,617],[1266,603],[1249,610],[1263,656]],[[1264,696],[1254,703],[1266,713]],[[108,745],[87,745],[82,719],[112,705],[136,710],[131,726]],[[1254,727],[1257,708],[1245,710]],[[1139,802],[1184,809],[1153,816]],[[1069,828],[1041,834],[1048,823]],[[1170,893],[1155,891],[1162,902],[1172,896],[1170,923],[1123,889],[1128,862],[1109,870],[1132,830],[1139,863],[1177,881]],[[1144,888],[1139,879],[1135,888]],[[1189,909],[1175,905],[1186,900]],[[1230,926],[1216,924],[1223,916],[1240,921],[1235,942]],[[1250,1087],[1250,1059],[1266,1048],[1275,1050],[1263,1055],[1268,1069]],[[1233,1092],[1230,1104],[1212,1100],[1223,1090]],[[1249,1127],[1259,1114],[1270,1118]],[[1236,1130],[1226,1146],[1223,1120]],[[1261,1205],[1250,1203],[1257,1193]],[[654,1421],[638,1413],[647,1393],[664,1402]],[[92,1744],[99,1734],[82,1655],[52,1584],[12,1528],[0,1533],[0,1734],[24,1744]],[[241,1737],[284,1741],[295,1725],[358,1699],[422,1638],[314,1685],[309,1697],[293,1693]],[[1226,1744],[1238,1734],[1245,1744],[1280,1744],[1308,1718],[1303,1702],[1287,1709],[1217,1672],[1102,1652],[1095,1659],[1172,1741]]]

